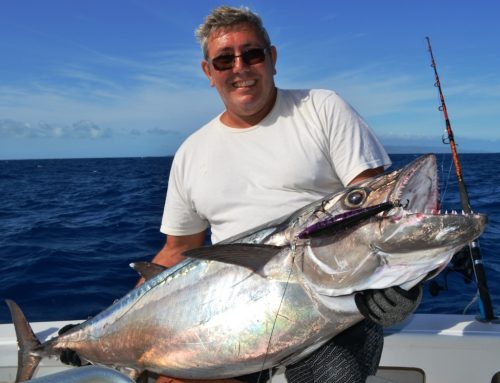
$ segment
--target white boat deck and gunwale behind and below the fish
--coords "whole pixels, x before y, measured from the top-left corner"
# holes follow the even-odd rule
[[[74,323],[75,321],[71,321]],[[40,340],[70,322],[32,323]],[[500,323],[473,316],[415,314],[386,329],[381,368],[372,383],[500,383]],[[37,377],[71,367],[44,359]],[[0,383],[14,382],[17,344],[12,324],[0,325]],[[285,382],[282,374],[274,383]]]

